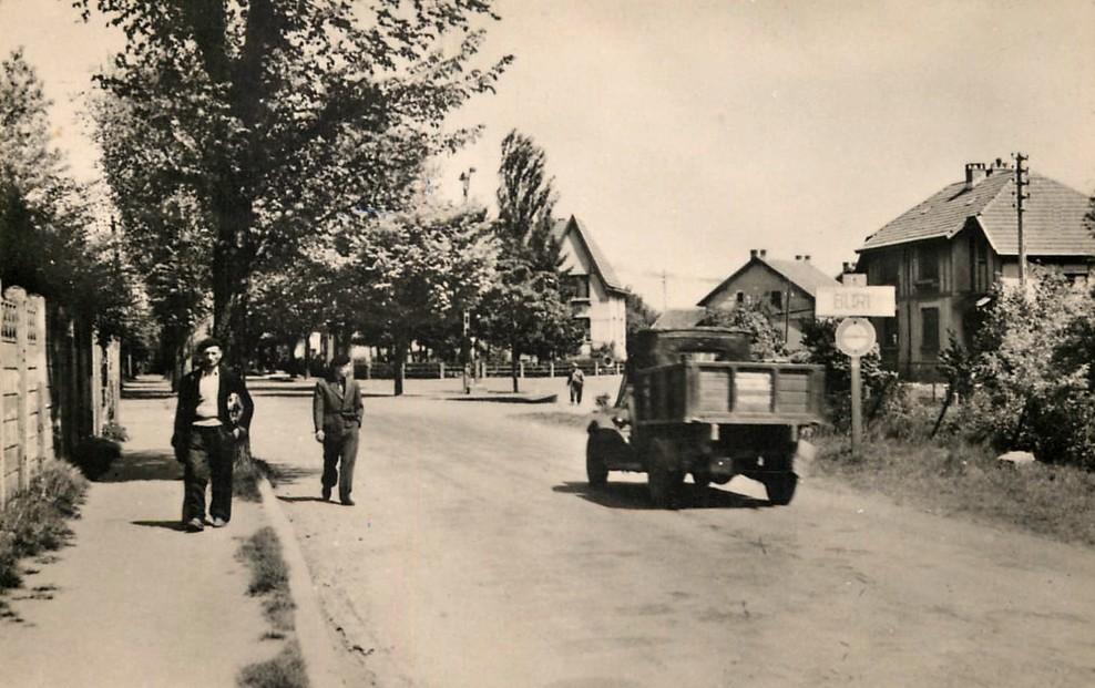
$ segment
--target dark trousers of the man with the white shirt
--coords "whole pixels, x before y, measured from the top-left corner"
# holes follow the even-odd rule
[[[205,517],[205,485],[213,483],[209,516],[232,518],[235,442],[223,428],[191,428],[183,456],[183,521]]]

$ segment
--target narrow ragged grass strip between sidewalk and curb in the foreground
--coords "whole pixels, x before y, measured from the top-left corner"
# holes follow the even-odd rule
[[[289,569],[282,557],[282,543],[273,528],[264,527],[239,546],[238,556],[250,568],[247,594],[262,598],[263,614],[270,624],[270,630],[264,637],[284,640],[284,645],[273,658],[244,667],[236,684],[247,688],[305,688],[308,676],[300,645],[293,637],[295,605],[289,594]]]

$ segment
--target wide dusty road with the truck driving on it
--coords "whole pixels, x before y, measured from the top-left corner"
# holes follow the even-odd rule
[[[1095,685],[1089,548],[811,479],[656,511],[637,475],[587,490],[542,407],[426,398],[366,399],[345,507],[316,500],[307,388],[256,404],[347,685]]]

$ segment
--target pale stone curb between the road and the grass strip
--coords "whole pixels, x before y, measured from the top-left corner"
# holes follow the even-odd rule
[[[282,543],[282,555],[289,567],[289,595],[296,605],[294,618],[296,637],[304,657],[305,672],[311,688],[341,688],[346,684],[338,671],[339,659],[335,653],[335,639],[327,626],[316,584],[311,581],[308,564],[288,517],[282,511],[274,486],[259,473],[258,492],[263,495],[270,525]]]

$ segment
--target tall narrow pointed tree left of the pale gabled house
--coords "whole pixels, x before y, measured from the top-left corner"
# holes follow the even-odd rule
[[[494,223],[502,254],[475,327],[489,341],[509,349],[514,392],[520,390],[522,355],[566,355],[583,337],[562,295],[563,256],[552,219],[555,192],[545,175],[543,150],[511,131],[502,141]]]

